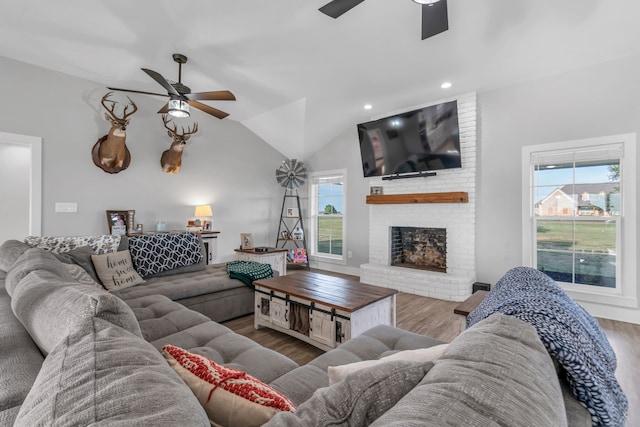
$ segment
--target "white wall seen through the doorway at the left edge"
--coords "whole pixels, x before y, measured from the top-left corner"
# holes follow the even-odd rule
[[[0,242],[29,233],[31,148],[0,142]]]

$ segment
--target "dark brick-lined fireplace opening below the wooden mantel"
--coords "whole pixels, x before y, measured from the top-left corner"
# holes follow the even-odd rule
[[[391,265],[447,272],[447,229],[391,227]]]

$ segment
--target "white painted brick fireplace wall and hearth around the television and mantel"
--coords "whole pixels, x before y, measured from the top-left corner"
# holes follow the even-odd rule
[[[466,191],[469,202],[369,205],[369,263],[360,266],[363,283],[450,301],[463,301],[471,295],[476,277],[476,94],[457,100],[462,168],[437,171],[436,176],[425,178],[376,178],[370,185],[381,185],[384,194]],[[447,272],[391,267],[392,226],[446,228]]]

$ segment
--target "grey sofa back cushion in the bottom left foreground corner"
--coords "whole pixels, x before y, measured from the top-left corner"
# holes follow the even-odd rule
[[[85,318],[46,358],[16,426],[208,426],[180,377],[150,344]]]

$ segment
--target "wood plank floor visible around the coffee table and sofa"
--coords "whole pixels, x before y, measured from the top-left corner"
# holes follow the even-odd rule
[[[358,279],[356,276],[335,275]],[[396,301],[396,323],[399,328],[450,342],[459,335],[464,321],[462,316],[453,314],[453,309],[458,304],[399,293]],[[598,321],[618,358],[616,377],[629,399],[627,427],[640,427],[640,325],[608,319]],[[264,347],[284,354],[300,365],[323,353],[312,345],[280,332],[270,329],[255,330],[253,315],[225,322],[224,325]]]

